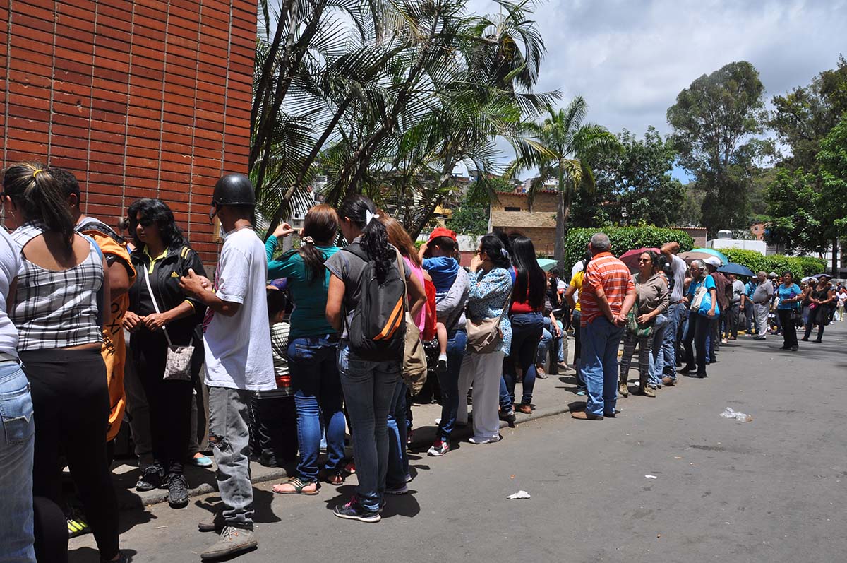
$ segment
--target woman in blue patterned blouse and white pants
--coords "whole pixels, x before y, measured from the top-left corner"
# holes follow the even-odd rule
[[[459,374],[459,397],[468,394],[473,384],[473,437],[471,443],[494,443],[500,440],[497,404],[503,372],[503,358],[512,343],[512,324],[507,309],[512,292],[512,262],[503,242],[494,234],[479,239],[476,256],[471,261],[468,321],[500,319],[501,337],[490,352],[476,352],[468,345]],[[468,423],[468,408],[460,405],[458,424]]]

